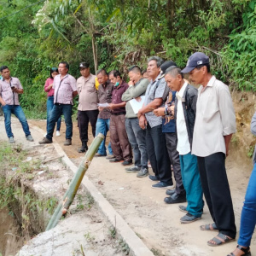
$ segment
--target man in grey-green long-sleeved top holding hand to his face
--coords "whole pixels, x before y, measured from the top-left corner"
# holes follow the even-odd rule
[[[137,113],[134,113],[130,101],[132,99],[141,100],[140,96],[145,95],[149,80],[143,79],[141,69],[137,66],[129,69],[129,78],[131,85],[123,94],[122,101],[126,102],[125,128],[133,150],[134,166],[125,170],[126,172],[137,172],[137,177],[146,177],[148,176],[146,131],[141,129]]]

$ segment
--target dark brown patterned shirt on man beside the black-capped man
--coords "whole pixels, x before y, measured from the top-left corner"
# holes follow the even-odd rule
[[[106,84],[100,84],[98,87],[98,98],[99,103],[111,103],[112,102],[112,90],[113,84],[110,81],[107,81]],[[100,111],[98,118],[99,119],[110,119],[111,113],[109,108],[104,108]]]

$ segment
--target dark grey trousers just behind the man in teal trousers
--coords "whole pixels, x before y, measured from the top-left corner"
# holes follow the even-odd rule
[[[183,178],[180,169],[179,154],[177,152],[177,136],[175,132],[166,132],[166,147],[173,167],[173,175],[176,181],[175,192],[185,193]]]

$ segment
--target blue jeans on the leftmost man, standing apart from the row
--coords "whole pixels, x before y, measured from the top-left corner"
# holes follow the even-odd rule
[[[23,112],[20,105],[5,105],[3,106],[3,113],[4,113],[4,125],[5,131],[8,137],[14,137],[11,127],[11,114],[15,114],[15,117],[19,119],[20,124],[22,125],[23,131],[25,135],[30,135],[29,127],[26,121],[25,113]]]

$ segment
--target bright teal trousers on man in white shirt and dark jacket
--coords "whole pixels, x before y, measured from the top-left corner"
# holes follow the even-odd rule
[[[194,154],[179,155],[183,186],[187,195],[187,211],[195,217],[201,217],[203,211],[201,180]]]

